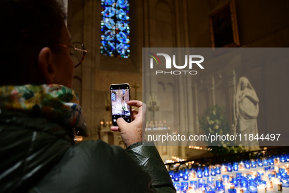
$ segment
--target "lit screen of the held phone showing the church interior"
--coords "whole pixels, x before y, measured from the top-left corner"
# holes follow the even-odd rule
[[[129,89],[111,90],[111,110],[113,122],[116,122],[116,120],[120,117],[127,122],[131,122],[130,106],[127,104],[129,100]]]

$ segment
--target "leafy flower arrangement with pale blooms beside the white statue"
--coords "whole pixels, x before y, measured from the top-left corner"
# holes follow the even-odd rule
[[[225,106],[212,105],[199,116],[200,128],[208,136],[210,135],[226,135],[230,131],[229,121],[226,118]],[[225,155],[231,153],[244,152],[243,146],[235,145],[231,141],[212,141],[208,148],[212,149],[213,155]]]

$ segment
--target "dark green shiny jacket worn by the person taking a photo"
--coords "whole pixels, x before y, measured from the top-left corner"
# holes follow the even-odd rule
[[[74,144],[58,121],[0,110],[0,193],[176,192],[155,146]]]

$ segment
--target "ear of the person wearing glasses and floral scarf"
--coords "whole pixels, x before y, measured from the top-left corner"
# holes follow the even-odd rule
[[[46,84],[54,84],[56,69],[52,57],[52,51],[48,47],[42,48],[38,55],[38,67]]]

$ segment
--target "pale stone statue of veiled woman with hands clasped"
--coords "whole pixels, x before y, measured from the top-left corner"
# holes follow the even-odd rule
[[[259,98],[247,77],[241,77],[239,79],[237,92],[234,98],[234,127],[236,133],[242,135],[242,141],[240,137],[237,137],[237,144],[246,146],[247,150],[259,150],[259,142],[255,140],[255,136],[258,133],[257,128],[257,116],[259,114]],[[245,141],[244,134],[247,134]],[[252,141],[249,140],[249,135],[253,134]],[[251,135],[252,136],[252,135]]]

